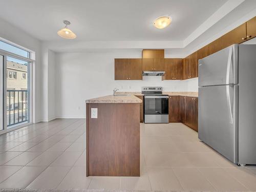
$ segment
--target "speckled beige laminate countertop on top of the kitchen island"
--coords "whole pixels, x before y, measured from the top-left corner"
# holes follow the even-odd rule
[[[134,95],[107,95],[86,100],[86,103],[141,103],[142,100]]]

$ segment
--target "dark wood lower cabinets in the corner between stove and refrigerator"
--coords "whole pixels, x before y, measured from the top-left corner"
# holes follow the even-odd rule
[[[198,131],[198,98],[170,96],[169,122],[182,122]]]

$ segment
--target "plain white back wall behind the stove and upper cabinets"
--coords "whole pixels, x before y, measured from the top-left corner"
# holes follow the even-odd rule
[[[165,80],[143,77],[143,80],[114,80],[114,58],[140,58],[141,53],[57,53],[56,116],[84,118],[86,99],[119,91],[141,91],[142,86],[162,86],[164,91],[197,91],[197,78]],[[166,56],[167,57],[167,56]]]

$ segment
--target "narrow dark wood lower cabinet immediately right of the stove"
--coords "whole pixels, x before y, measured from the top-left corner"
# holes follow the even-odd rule
[[[169,122],[180,121],[180,96],[169,96]]]

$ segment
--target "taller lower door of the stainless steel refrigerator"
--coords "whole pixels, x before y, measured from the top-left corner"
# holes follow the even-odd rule
[[[238,86],[199,88],[198,137],[230,161],[238,161]]]

